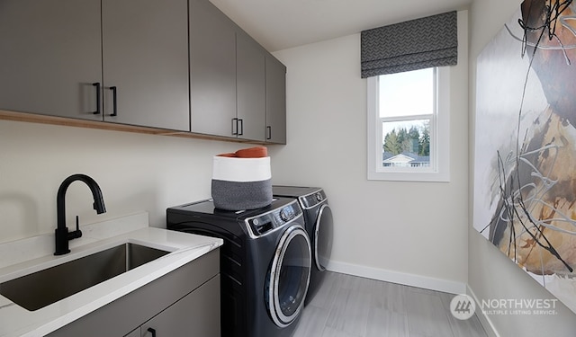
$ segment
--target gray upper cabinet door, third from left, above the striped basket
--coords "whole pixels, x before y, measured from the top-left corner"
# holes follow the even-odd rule
[[[232,135],[236,118],[236,26],[208,0],[190,1],[192,131]]]

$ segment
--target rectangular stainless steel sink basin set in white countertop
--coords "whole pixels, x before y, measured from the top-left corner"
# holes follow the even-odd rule
[[[0,294],[18,306],[34,311],[167,253],[139,244],[121,244],[0,283]]]

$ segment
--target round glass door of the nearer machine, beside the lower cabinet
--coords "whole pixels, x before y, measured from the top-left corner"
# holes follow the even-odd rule
[[[274,323],[288,326],[302,310],[311,273],[311,245],[300,225],[284,231],[266,283],[266,303]]]

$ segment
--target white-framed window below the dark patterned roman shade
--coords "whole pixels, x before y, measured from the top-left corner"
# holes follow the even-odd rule
[[[368,77],[368,179],[449,181],[449,67]]]

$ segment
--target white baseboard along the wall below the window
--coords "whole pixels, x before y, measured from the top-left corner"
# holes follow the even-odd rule
[[[378,279],[386,282],[403,284],[410,287],[437,290],[450,294],[465,294],[467,288],[467,285],[464,282],[455,282],[448,279],[428,278],[421,275],[408,274],[392,270],[382,270],[346,262],[330,261],[328,263],[327,270],[360,276],[367,279]]]

